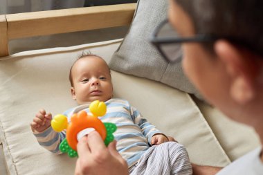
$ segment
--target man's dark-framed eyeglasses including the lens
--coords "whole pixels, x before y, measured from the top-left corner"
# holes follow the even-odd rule
[[[195,35],[193,37],[177,37],[178,34],[172,28],[168,19],[159,24],[152,34],[151,43],[167,62],[177,63],[181,61],[181,44],[189,42],[215,42],[216,37],[210,35]]]

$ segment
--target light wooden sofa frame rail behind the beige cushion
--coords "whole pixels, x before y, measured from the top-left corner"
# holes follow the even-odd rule
[[[128,26],[136,3],[0,15],[0,57],[10,39]]]

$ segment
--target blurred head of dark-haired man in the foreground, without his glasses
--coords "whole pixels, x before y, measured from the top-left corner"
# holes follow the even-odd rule
[[[169,20],[180,37],[218,37],[183,44],[183,69],[205,98],[240,122],[255,122],[263,103],[260,0],[171,0]],[[260,106],[261,105],[261,106]],[[252,114],[253,113],[253,114]]]

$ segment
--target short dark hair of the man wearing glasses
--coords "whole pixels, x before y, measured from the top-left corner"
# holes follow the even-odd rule
[[[175,0],[197,34],[213,35],[263,56],[262,0]],[[212,44],[205,48],[212,51]]]

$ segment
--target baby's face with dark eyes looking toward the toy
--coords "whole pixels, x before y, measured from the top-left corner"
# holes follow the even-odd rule
[[[82,57],[71,70],[71,94],[78,104],[94,100],[105,102],[112,97],[113,87],[107,63],[96,56]]]

